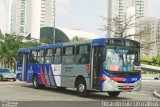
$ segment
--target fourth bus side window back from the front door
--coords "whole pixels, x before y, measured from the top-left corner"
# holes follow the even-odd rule
[[[47,63],[47,64],[53,63],[53,53],[54,53],[54,49],[47,49],[46,50],[45,63]]]

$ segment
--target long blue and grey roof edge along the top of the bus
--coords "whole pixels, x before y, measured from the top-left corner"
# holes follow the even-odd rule
[[[127,38],[98,38],[98,39],[92,39],[92,40],[83,40],[83,41],[76,41],[76,42],[68,42],[68,43],[61,43],[61,44],[48,44],[48,45],[42,45],[42,46],[34,46],[29,48],[20,48],[20,51],[23,52],[30,52],[33,50],[39,50],[39,49],[46,49],[46,48],[57,48],[57,47],[63,47],[63,46],[70,46],[70,45],[80,45],[80,44],[92,44],[93,46],[103,46],[105,45],[106,41],[108,40],[128,40],[132,42],[139,43],[135,40],[127,39]]]

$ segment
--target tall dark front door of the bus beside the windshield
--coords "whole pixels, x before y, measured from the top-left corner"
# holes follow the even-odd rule
[[[101,62],[101,58],[102,58],[102,47],[96,46],[93,47],[93,51],[92,51],[92,67],[93,67],[93,71],[92,71],[92,89],[95,90],[100,90],[100,80],[99,80],[99,76],[100,76],[100,62]]]

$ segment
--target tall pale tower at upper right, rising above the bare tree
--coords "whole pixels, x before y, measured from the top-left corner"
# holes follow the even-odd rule
[[[127,16],[133,13],[135,17],[147,16],[147,3],[147,0],[108,0],[108,18],[119,17],[125,22]],[[108,21],[108,26],[110,25],[111,22]],[[107,35],[112,37],[114,34],[107,31]]]

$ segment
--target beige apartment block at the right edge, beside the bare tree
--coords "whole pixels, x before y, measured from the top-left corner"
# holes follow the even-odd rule
[[[145,33],[135,39],[141,43],[141,56],[160,55],[160,19],[144,17],[137,21],[136,32]]]

